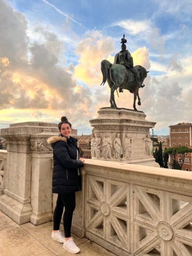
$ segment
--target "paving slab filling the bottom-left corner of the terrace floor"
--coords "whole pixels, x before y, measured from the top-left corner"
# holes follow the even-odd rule
[[[20,226],[0,231],[0,256],[36,256],[47,250]]]

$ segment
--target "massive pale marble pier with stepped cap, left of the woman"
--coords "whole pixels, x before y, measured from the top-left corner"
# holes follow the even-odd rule
[[[31,137],[35,134],[37,138]],[[30,217],[35,224],[50,220],[52,154],[50,149],[43,152],[44,143],[41,143],[41,139],[45,140],[56,134],[57,124],[44,122],[11,124],[9,128],[1,129],[1,137],[7,143],[7,168],[4,195],[0,196],[0,210],[19,225],[29,222]],[[31,152],[31,147],[33,149],[34,146],[32,142],[40,142],[37,151],[34,148]]]

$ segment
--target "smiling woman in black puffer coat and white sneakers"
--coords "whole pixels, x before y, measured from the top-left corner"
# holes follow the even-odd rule
[[[83,158],[79,158],[77,139],[71,137],[71,123],[66,117],[61,117],[58,125],[60,135],[48,139],[53,148],[53,182],[52,192],[58,194],[53,213],[52,239],[63,243],[63,248],[71,253],[78,253],[80,249],[71,237],[72,216],[75,210],[75,192],[81,190],[80,167]],[[63,208],[63,226],[65,237],[59,231]]]

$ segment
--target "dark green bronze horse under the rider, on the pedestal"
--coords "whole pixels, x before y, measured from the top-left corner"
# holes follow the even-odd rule
[[[146,69],[140,65],[136,65],[135,69],[138,71],[141,84],[143,84],[143,81],[147,77],[147,73],[149,71],[146,71]],[[117,108],[117,105],[114,99],[114,91],[117,90],[117,88],[119,87],[120,89],[129,90],[130,93],[134,94],[133,108],[134,110],[137,110],[135,107],[136,98],[138,97],[139,106],[141,105],[141,101],[139,98],[139,86],[136,83],[132,72],[129,71],[124,65],[112,64],[108,60],[101,61],[101,72],[103,75],[103,81],[101,85],[102,84],[104,85],[105,82],[107,81],[111,89],[111,95],[110,95],[111,107]]]

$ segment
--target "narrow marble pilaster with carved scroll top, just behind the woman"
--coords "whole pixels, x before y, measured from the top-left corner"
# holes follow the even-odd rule
[[[50,136],[50,135],[49,135]],[[30,222],[39,225],[52,220],[52,147],[47,134],[31,135],[31,206]]]

